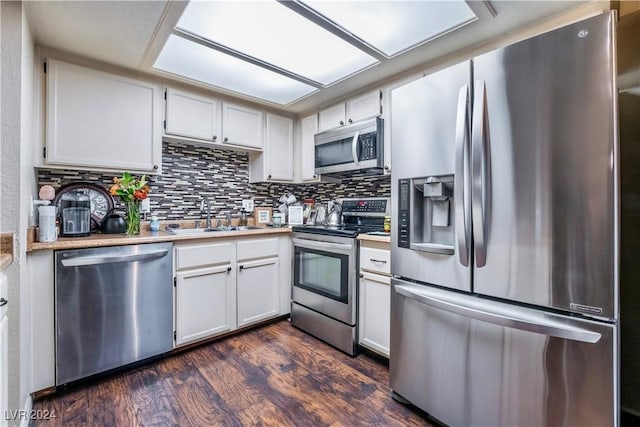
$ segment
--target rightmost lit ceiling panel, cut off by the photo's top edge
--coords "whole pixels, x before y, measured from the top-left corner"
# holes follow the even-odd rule
[[[463,0],[304,3],[387,57],[477,19]]]

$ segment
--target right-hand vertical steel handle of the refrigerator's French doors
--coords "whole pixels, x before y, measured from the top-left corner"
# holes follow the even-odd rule
[[[471,133],[471,212],[476,266],[487,263],[487,217],[489,209],[489,138],[486,114],[486,86],[476,80],[473,98],[473,130]]]

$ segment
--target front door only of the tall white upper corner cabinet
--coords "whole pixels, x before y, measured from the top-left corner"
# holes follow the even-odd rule
[[[268,180],[293,180],[293,120],[267,114],[267,176]]]

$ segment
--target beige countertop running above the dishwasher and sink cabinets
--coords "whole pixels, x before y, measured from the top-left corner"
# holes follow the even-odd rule
[[[225,237],[244,237],[244,236],[263,236],[269,234],[288,234],[291,229],[288,227],[272,228],[264,227],[258,230],[242,230],[242,231],[215,231],[211,233],[202,233],[198,235],[175,235],[164,231],[149,231],[143,229],[137,236],[128,236],[126,234],[92,234],[87,237],[60,237],[55,242],[41,243],[29,238],[27,252],[41,250],[59,250],[59,249],[81,249],[81,248],[97,248],[101,246],[119,246],[119,245],[137,245],[139,243],[158,243],[158,242],[175,242],[185,240],[202,240],[202,239],[219,239]],[[35,236],[35,232],[30,232],[30,236]]]

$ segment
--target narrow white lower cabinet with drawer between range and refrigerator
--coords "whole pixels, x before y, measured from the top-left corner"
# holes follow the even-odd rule
[[[358,296],[358,343],[389,357],[391,268],[389,245],[361,242]]]

